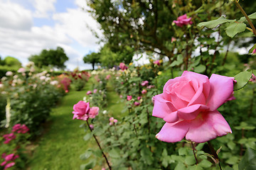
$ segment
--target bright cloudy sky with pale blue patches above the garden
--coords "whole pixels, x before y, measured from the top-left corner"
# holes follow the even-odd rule
[[[82,58],[100,50],[100,26],[83,11],[86,0],[0,0],[0,56],[16,57],[23,66],[43,49],[63,47],[67,69],[90,69]]]

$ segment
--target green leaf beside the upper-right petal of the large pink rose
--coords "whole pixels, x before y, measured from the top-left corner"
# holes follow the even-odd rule
[[[245,71],[245,72],[240,72],[239,74],[235,75],[235,80],[237,83],[234,85],[234,91],[237,91],[239,89],[242,89],[250,78],[252,77],[252,71]]]

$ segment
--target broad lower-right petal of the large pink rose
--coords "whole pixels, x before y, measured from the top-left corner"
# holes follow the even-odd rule
[[[199,115],[195,120],[191,120],[186,140],[203,143],[231,132],[230,126],[223,115],[218,111],[210,111]]]

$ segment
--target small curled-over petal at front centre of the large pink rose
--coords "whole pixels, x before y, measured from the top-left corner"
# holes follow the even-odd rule
[[[193,106],[188,106],[186,108],[178,109],[177,114],[178,118],[181,118],[183,120],[193,120],[196,118],[198,113],[206,111],[208,109],[208,106],[196,104]]]

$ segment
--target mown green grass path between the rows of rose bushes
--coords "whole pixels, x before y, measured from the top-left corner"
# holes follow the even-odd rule
[[[28,164],[30,170],[75,170],[80,169],[80,164],[85,161],[79,159],[87,147],[94,144],[86,143],[82,137],[84,130],[79,128],[82,124],[79,120],[73,120],[73,105],[82,100],[87,90],[91,90],[89,81],[82,91],[70,91],[62,98],[60,105],[51,113],[48,132],[41,137],[33,156]],[[108,114],[117,118],[124,106],[118,102],[119,96],[110,84],[107,86]]]

